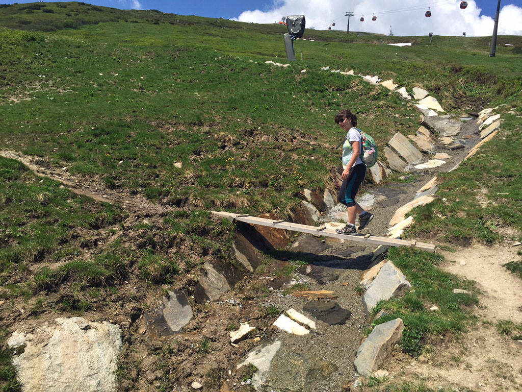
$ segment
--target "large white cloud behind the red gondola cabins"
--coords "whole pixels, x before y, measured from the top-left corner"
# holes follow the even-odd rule
[[[383,5],[384,3],[384,5]],[[455,0],[438,0],[432,6],[432,16],[426,18],[424,13],[428,7],[419,7],[418,0],[354,0],[348,7],[345,0],[274,0],[267,11],[258,9],[244,11],[235,20],[256,23],[274,23],[286,15],[304,15],[306,27],[326,30],[332,21],[334,29],[346,30],[348,17],[346,11],[355,16],[350,19],[350,31],[367,31],[388,34],[390,26],[398,36],[423,36],[429,32],[440,36],[490,36],[493,32],[494,20],[481,15],[481,9],[470,0],[466,9],[459,8]],[[385,13],[384,11],[414,7],[404,12]],[[372,14],[377,16],[372,21]],[[359,19],[364,14],[364,22]],[[522,8],[506,5],[499,18],[499,34],[522,35]]]

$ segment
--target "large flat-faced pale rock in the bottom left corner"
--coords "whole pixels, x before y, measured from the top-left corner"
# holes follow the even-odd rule
[[[89,322],[90,328],[82,330],[84,318],[55,321],[55,325],[45,324],[23,335],[25,350],[13,356],[22,391],[115,391],[122,348],[120,327],[106,321]]]

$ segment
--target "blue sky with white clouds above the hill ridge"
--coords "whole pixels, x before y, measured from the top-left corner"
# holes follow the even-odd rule
[[[466,32],[468,37],[491,36],[497,5],[495,0],[469,0],[466,9],[460,9],[460,0],[92,0],[87,3],[256,23],[274,23],[286,15],[305,15],[306,27],[343,31],[348,22],[345,13],[351,11],[355,15],[350,18],[350,31],[389,34],[391,26],[396,36],[428,32],[461,36]],[[424,13],[429,7],[432,16],[426,18]],[[373,15],[377,20],[372,21]],[[501,0],[499,34],[522,35],[522,0]]]

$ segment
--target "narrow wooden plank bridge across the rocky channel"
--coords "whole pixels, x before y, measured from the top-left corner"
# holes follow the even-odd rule
[[[417,240],[408,239],[396,239],[388,237],[377,237],[371,234],[339,234],[336,233],[335,229],[328,228],[326,226],[308,226],[301,225],[299,223],[285,222],[284,220],[275,221],[266,218],[259,218],[257,216],[251,216],[248,214],[234,214],[231,212],[212,211],[214,216],[228,218],[231,221],[239,221],[250,223],[253,225],[262,225],[280,228],[284,230],[291,230],[293,232],[301,232],[308,234],[321,235],[325,237],[341,238],[348,241],[362,242],[367,244],[383,245],[383,246],[412,246],[428,252],[435,252],[435,245],[429,243],[422,243]]]

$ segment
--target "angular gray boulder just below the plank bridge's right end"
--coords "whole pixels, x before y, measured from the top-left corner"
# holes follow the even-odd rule
[[[395,297],[410,287],[411,284],[406,280],[406,276],[391,261],[388,261],[363,295],[366,314],[369,315],[379,301]]]

